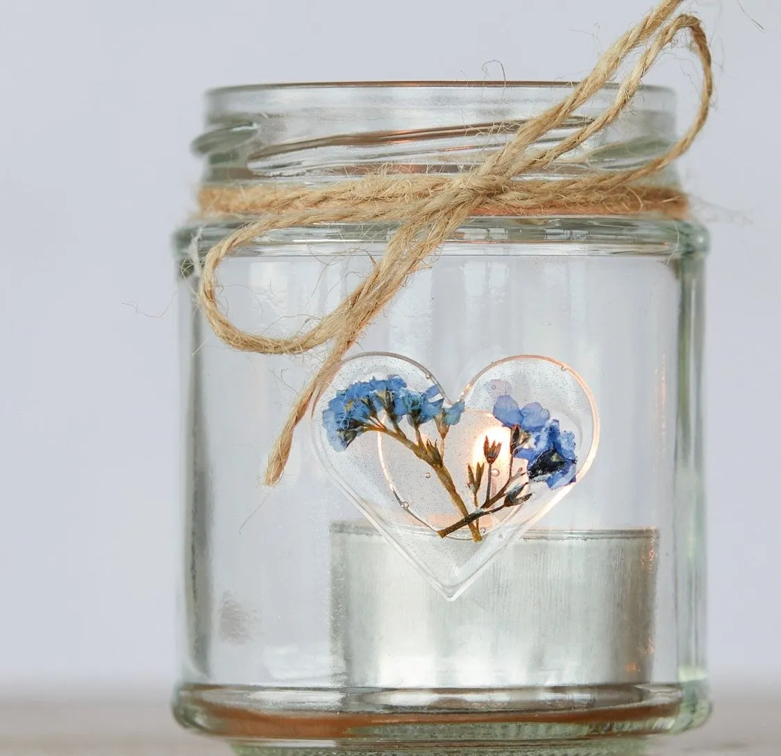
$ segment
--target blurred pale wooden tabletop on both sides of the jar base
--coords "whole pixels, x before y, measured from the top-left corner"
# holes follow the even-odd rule
[[[230,756],[179,729],[165,702],[0,703],[0,756]],[[656,738],[648,756],[781,756],[781,696],[717,698],[708,725]]]

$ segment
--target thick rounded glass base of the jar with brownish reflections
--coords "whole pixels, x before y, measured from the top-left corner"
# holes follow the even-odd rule
[[[173,711],[186,727],[234,741],[239,756],[411,756],[455,749],[500,756],[524,753],[524,747],[545,756],[546,745],[551,754],[596,756],[615,751],[606,738],[699,726],[710,704],[701,681],[494,690],[187,684],[177,691]],[[622,756],[634,753],[625,738],[620,743]]]

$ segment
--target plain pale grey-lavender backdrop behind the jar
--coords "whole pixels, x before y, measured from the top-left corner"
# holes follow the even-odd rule
[[[4,0],[0,691],[169,686],[180,526],[169,234],[222,84],[574,79],[651,0]],[[718,77],[683,160],[711,225],[710,659],[781,676],[781,3],[701,2]],[[753,20],[752,20],[753,19]],[[757,23],[764,27],[761,29]],[[680,48],[651,80],[696,99]]]

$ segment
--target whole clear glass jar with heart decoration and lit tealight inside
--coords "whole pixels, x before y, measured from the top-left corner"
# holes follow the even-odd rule
[[[380,166],[459,173],[568,92],[226,88],[209,93],[194,147],[207,187],[316,187]],[[644,87],[536,177],[641,165],[675,140],[674,109],[672,92]],[[676,181],[674,169],[654,177]],[[248,354],[210,330],[196,256],[244,222],[195,221],[176,237],[180,722],[233,739],[240,754],[587,748],[703,722],[704,229],[654,213],[470,218],[362,333],[266,487],[272,444],[327,347]],[[253,332],[304,329],[393,231],[269,232],[220,266],[223,309]]]

